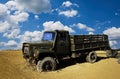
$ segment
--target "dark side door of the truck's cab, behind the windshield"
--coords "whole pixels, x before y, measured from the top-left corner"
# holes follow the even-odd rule
[[[68,32],[60,32],[57,36],[56,51],[59,56],[70,54],[70,38]]]

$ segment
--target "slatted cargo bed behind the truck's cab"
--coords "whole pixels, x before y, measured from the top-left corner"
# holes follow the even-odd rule
[[[71,51],[110,49],[107,35],[71,35]]]

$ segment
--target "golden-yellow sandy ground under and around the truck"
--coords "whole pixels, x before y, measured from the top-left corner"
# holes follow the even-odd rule
[[[25,62],[21,51],[0,51],[0,79],[120,79],[117,59],[98,53],[101,57],[94,64],[68,60],[56,71],[39,73]]]

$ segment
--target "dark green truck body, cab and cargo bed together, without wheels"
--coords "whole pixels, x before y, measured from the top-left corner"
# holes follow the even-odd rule
[[[73,52],[102,49],[110,49],[107,35],[69,35],[65,30],[45,31],[41,42],[23,43],[23,55],[33,59],[49,55],[59,58],[70,56]]]

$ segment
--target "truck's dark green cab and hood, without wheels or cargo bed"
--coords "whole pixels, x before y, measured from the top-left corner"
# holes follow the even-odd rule
[[[70,55],[69,37],[69,32],[65,30],[45,31],[40,42],[23,43],[23,56],[31,62],[44,57],[62,58]]]

